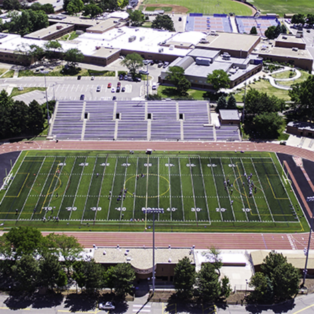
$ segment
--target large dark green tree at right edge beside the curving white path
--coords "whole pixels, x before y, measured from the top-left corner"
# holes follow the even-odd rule
[[[314,111],[314,76],[310,75],[305,81],[292,84],[288,95],[298,116],[304,121],[311,121]]]

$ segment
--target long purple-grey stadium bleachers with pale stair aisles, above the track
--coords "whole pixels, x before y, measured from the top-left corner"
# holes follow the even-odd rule
[[[61,140],[214,141],[208,101],[60,101],[49,135]],[[237,126],[216,139],[239,140]]]

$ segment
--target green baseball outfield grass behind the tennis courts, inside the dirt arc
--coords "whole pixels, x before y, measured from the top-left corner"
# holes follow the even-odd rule
[[[154,4],[155,0],[144,0],[143,4]],[[200,0],[192,2],[189,0],[159,0],[158,3],[164,4],[175,4],[189,9],[188,13],[203,13],[203,14],[214,14],[214,13],[225,13],[230,12],[236,15],[252,15],[251,8],[241,4],[237,1],[230,0]]]

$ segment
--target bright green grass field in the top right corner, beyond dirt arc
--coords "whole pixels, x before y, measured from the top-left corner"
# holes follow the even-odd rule
[[[314,1],[309,0],[248,0],[254,4],[261,13],[276,13],[283,16],[284,13],[314,14]]]

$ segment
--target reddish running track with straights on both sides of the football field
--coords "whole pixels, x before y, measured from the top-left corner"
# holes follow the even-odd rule
[[[298,147],[274,143],[254,142],[79,142],[79,141],[34,141],[8,143],[0,146],[0,154],[19,150],[210,150],[210,151],[269,151],[299,156],[314,161],[314,152]],[[314,191],[313,191],[314,192]],[[43,232],[44,235],[48,232]],[[148,232],[67,232],[73,235],[84,247],[116,246],[146,247],[152,246],[152,233]],[[156,233],[155,245],[158,247],[190,247],[219,249],[268,249],[268,250],[303,250],[308,234],[247,234],[247,233]],[[312,241],[311,249],[314,249]]]

